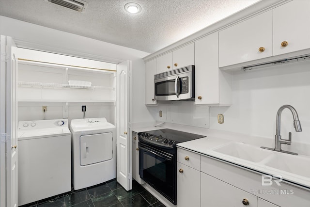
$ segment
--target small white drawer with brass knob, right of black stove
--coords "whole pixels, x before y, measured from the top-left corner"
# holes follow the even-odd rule
[[[201,156],[197,153],[177,148],[177,161],[200,171]]]

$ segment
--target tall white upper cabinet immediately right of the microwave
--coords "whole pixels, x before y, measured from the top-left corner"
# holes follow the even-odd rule
[[[231,75],[218,69],[217,32],[195,42],[195,103],[231,105]]]

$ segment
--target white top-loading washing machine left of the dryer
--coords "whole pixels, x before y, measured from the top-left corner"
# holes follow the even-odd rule
[[[71,191],[67,119],[18,122],[18,206]]]

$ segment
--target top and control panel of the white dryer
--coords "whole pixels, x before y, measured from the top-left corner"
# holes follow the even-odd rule
[[[97,131],[115,129],[115,126],[107,121],[106,118],[87,118],[73,119],[70,124],[70,129],[73,134],[85,131]]]

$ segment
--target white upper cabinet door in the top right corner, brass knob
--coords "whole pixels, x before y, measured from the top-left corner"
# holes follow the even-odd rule
[[[310,48],[310,0],[293,0],[273,9],[273,54]],[[286,41],[288,45],[282,47]]]

